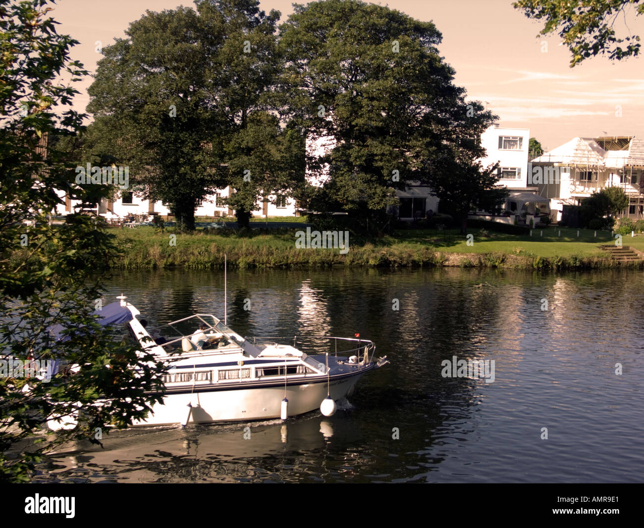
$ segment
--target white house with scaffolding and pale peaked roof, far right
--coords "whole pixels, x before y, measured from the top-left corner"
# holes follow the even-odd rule
[[[634,136],[575,137],[533,159],[530,166],[530,179],[550,200],[556,220],[570,206],[581,205],[584,198],[609,186],[620,186],[629,195],[623,216],[644,218],[639,187],[643,176],[644,140]]]

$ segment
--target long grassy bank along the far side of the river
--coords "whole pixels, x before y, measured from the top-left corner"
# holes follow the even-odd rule
[[[561,231],[561,236],[559,236]],[[298,249],[293,230],[270,233],[197,231],[194,235],[155,233],[153,228],[111,230],[123,257],[111,263],[120,269],[217,269],[224,254],[231,268],[317,268],[334,265],[433,267],[487,266],[520,269],[595,269],[629,266],[601,251],[611,244],[611,233],[567,228],[535,230],[532,237],[471,230],[471,245],[455,230],[406,230],[375,240],[350,239],[349,251]],[[171,244],[175,242],[176,245]],[[624,245],[644,250],[644,236],[624,237]]]

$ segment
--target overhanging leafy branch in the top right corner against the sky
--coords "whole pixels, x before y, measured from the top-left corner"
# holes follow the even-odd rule
[[[558,33],[573,58],[571,68],[595,55],[624,59],[639,54],[639,36],[630,33],[627,17],[644,14],[639,0],[518,0],[516,9],[539,21],[545,21],[540,35]],[[621,28],[621,35],[615,30]],[[625,33],[628,35],[625,35]]]

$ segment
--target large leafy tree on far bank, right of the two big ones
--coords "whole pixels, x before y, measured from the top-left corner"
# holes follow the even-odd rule
[[[282,93],[293,119],[310,141],[335,142],[317,165],[309,159],[310,168],[329,164],[312,209],[343,210],[374,226],[397,203],[395,189],[410,182],[432,184],[459,210],[477,201],[472,191],[493,184],[478,173],[475,159],[484,152],[471,139],[494,116],[478,103],[468,106],[453,84],[433,23],[384,6],[327,0],[295,5],[280,35]],[[448,184],[455,170],[460,194]]]

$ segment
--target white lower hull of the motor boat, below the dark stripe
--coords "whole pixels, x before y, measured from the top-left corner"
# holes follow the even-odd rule
[[[351,391],[363,372],[339,380],[331,380],[330,396],[344,398]],[[163,404],[155,404],[146,420],[134,425],[212,424],[214,422],[240,422],[280,418],[281,403],[289,400],[288,415],[296,416],[319,409],[327,397],[326,380],[311,380],[286,387],[239,387],[228,390],[199,391],[169,394]]]

